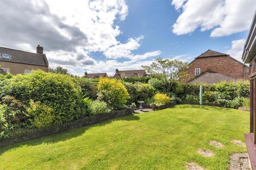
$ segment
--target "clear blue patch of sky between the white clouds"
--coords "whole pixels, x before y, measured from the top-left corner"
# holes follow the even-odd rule
[[[172,32],[172,25],[181,12],[175,11],[170,1],[127,1],[127,5],[129,14],[119,23],[123,34],[117,39],[126,43],[127,37],[144,35],[140,48],[134,53],[146,53],[150,49],[161,50],[162,57],[188,55],[194,58],[207,49],[225,53],[231,47],[231,41],[247,37],[248,30],[212,38],[211,30],[202,32],[199,28],[177,36]],[[186,60],[187,56],[182,58]]]

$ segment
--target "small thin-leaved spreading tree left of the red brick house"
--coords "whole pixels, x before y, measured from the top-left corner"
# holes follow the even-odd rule
[[[154,75],[164,82],[166,92],[170,92],[173,81],[187,77],[187,62],[171,60],[169,58],[157,58],[149,66],[142,65],[147,73]]]

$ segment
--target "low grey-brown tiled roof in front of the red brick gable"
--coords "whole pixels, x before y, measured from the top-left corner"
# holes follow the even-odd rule
[[[218,83],[221,81],[235,81],[236,78],[231,78],[225,74],[221,73],[212,73],[212,72],[206,72],[202,75],[200,75],[198,78],[190,81],[189,83],[207,83],[207,84],[213,84]]]

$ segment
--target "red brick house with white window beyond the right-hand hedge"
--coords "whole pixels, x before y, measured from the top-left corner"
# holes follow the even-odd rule
[[[188,77],[182,82],[214,83],[249,79],[249,66],[225,53],[207,50],[188,65]],[[206,72],[209,72],[205,74]]]

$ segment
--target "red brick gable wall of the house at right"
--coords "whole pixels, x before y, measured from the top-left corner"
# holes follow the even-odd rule
[[[188,77],[182,82],[189,82],[195,78],[195,69],[200,68],[200,73],[210,69],[213,72],[222,73],[233,78],[243,79],[244,65],[229,56],[196,58],[189,64]],[[245,67],[245,78],[249,79],[249,67]]]

